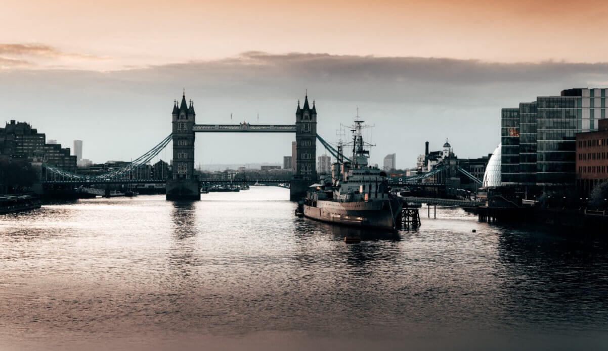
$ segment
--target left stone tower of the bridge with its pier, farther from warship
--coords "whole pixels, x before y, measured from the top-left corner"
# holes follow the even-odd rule
[[[186,102],[185,92],[181,104],[173,103],[173,166],[167,180],[167,200],[200,200],[201,185],[194,174],[194,132],[196,123],[194,103]]]

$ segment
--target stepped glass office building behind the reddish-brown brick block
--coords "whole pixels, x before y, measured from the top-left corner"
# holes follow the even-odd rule
[[[576,133],[606,118],[606,90],[566,89],[502,109],[502,184],[573,185]]]

